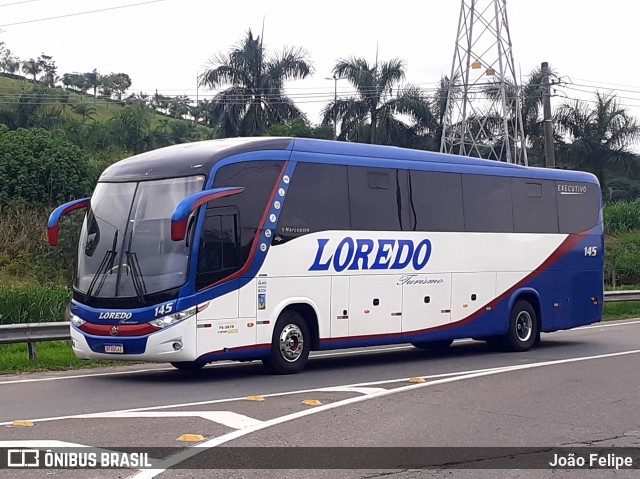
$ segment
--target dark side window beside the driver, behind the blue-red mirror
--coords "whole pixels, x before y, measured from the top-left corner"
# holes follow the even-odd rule
[[[205,217],[196,283],[198,288],[232,274],[240,266],[238,209],[232,206],[209,208]]]

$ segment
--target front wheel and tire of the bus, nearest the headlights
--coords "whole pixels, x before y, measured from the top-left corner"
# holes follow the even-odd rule
[[[311,334],[302,315],[288,310],[280,315],[273,329],[271,352],[262,360],[273,374],[295,374],[302,371],[309,358]]]

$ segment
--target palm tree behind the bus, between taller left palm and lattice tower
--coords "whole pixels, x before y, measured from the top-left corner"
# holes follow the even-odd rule
[[[413,146],[433,121],[429,100],[420,89],[397,88],[405,77],[404,62],[398,58],[374,65],[363,58],[340,59],[333,73],[358,93],[355,98],[336,99],[322,111],[323,124],[340,121],[340,140]],[[408,115],[414,124],[407,125],[396,114]]]

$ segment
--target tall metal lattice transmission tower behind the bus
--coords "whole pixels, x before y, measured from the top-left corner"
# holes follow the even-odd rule
[[[527,165],[506,0],[462,0],[440,151]]]

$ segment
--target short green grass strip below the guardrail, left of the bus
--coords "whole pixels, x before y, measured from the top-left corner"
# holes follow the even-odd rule
[[[67,341],[47,341],[37,345],[38,359],[30,360],[25,344],[0,345],[0,374],[34,371],[60,371],[131,364],[128,362],[93,361],[76,358]]]

